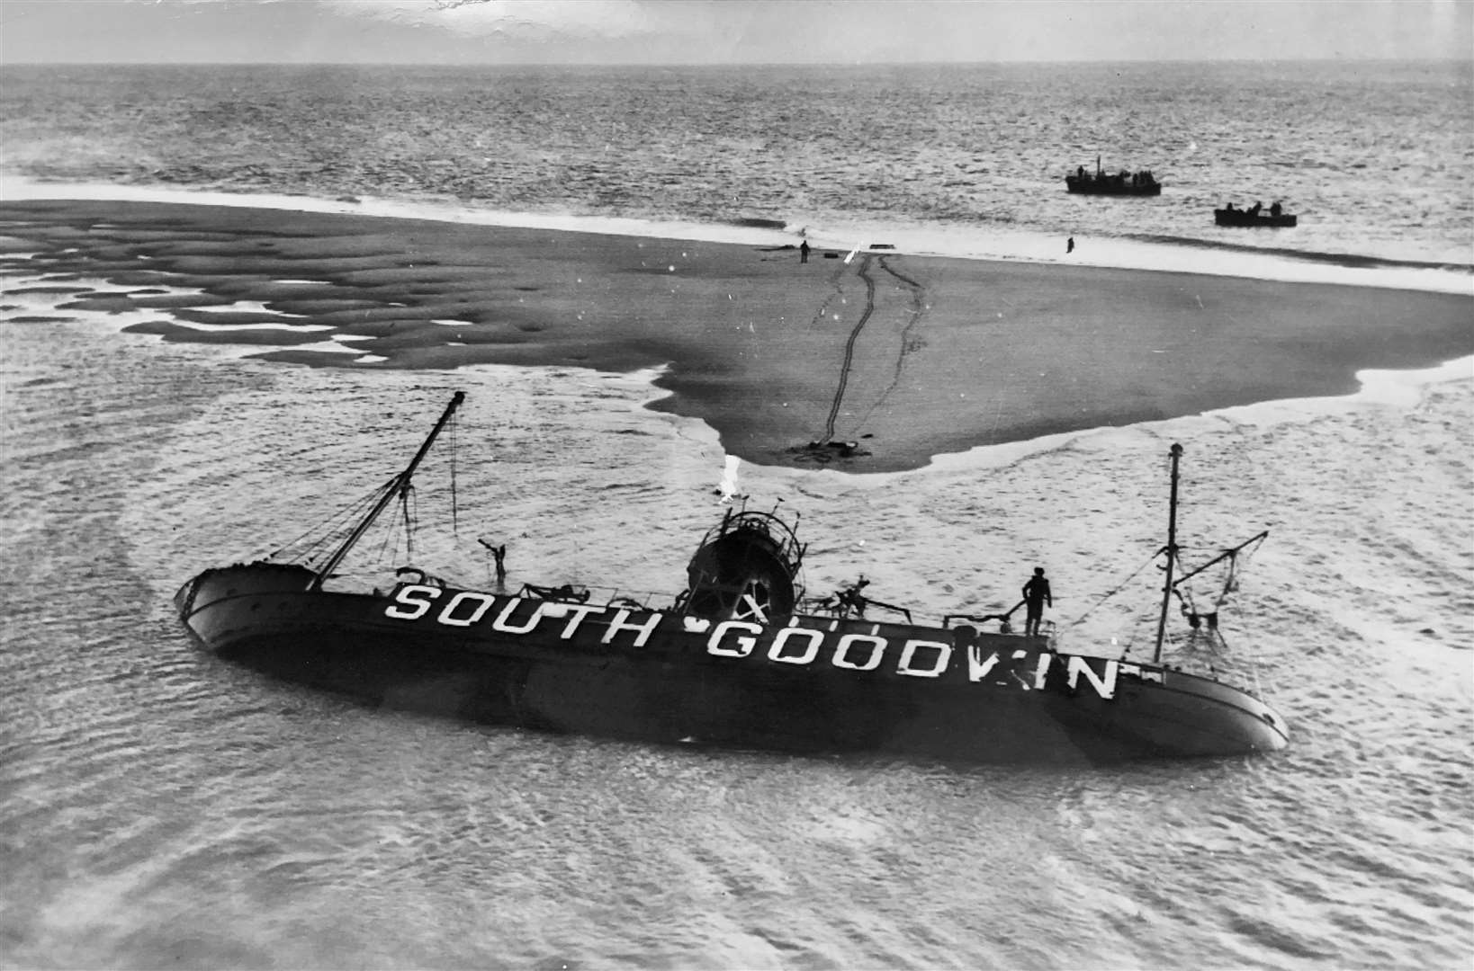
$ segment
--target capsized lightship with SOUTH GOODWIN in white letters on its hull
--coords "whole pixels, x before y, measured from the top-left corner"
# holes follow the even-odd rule
[[[1047,632],[1013,629],[1017,606],[927,623],[868,598],[864,581],[808,600],[796,519],[736,507],[700,541],[674,597],[601,598],[570,583],[475,589],[410,566],[379,589],[338,589],[343,557],[408,501],[461,401],[457,392],[340,542],[302,561],[203,570],[175,595],[184,626],[220,657],[373,704],[646,743],[974,763],[1287,744],[1284,719],[1260,698],[1162,662],[1169,606],[1181,600],[1178,446],[1150,660],[1054,650]]]

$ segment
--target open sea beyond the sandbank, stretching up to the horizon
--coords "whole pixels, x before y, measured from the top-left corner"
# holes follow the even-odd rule
[[[6,66],[7,171],[470,209],[1474,264],[1470,62]],[[1150,168],[1157,199],[1064,174]],[[1225,202],[1300,225],[1218,228]],[[879,237],[889,239],[889,237]]]

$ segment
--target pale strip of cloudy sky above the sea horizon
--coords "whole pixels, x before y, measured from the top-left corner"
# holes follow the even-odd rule
[[[1474,0],[0,0],[0,65],[1447,57]]]

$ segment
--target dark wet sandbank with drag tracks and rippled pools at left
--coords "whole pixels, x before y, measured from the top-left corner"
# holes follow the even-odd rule
[[[1467,295],[846,256],[277,209],[0,203],[0,267],[75,287],[57,312],[156,309],[130,329],[315,367],[668,365],[659,385],[672,395],[654,407],[708,421],[728,452],[762,464],[909,469],[974,445],[1349,393],[1362,368],[1474,354]],[[75,283],[97,278],[109,289]]]

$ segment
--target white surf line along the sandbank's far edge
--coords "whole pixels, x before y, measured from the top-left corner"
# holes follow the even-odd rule
[[[758,228],[727,224],[634,220],[597,215],[548,215],[498,209],[466,209],[460,202],[401,202],[367,197],[360,202],[312,199],[307,196],[243,194],[209,190],[111,186],[106,183],[37,183],[19,175],[0,175],[0,199],[24,200],[99,200],[170,202],[215,205],[245,209],[286,209],[339,215],[370,215],[432,222],[497,225],[504,228],[551,230],[559,233],[598,233],[650,240],[690,240],[743,246],[794,246],[799,227]],[[1343,267],[1281,253],[1220,250],[1197,246],[1172,246],[1138,240],[1088,237],[1075,234],[1076,249],[1061,258],[1057,236],[1042,231],[998,227],[917,227],[917,225],[830,225],[822,236],[815,228],[802,230],[815,249],[849,252],[909,253],[954,259],[992,259],[1085,265],[1114,270],[1191,273],[1218,277],[1244,277],[1281,283],[1331,283],[1396,290],[1459,293],[1474,296],[1474,276],[1462,271],[1419,267]],[[855,239],[884,243],[855,246]],[[849,240],[849,242],[846,242]],[[879,248],[879,249],[876,249]]]

